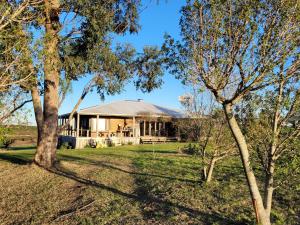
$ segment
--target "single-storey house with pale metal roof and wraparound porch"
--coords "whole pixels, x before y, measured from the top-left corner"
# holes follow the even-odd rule
[[[139,144],[178,140],[176,120],[183,118],[179,110],[158,106],[143,100],[123,100],[81,109],[74,114],[59,142],[84,148],[91,142],[109,144]],[[69,114],[59,116],[64,125]]]

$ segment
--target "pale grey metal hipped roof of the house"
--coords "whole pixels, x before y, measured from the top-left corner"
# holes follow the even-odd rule
[[[103,116],[154,116],[183,118],[184,113],[163,106],[158,106],[140,100],[122,100],[108,104],[81,109],[81,115],[103,115]]]

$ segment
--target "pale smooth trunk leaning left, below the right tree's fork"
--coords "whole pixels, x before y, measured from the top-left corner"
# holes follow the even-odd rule
[[[243,133],[241,132],[241,129],[238,125],[238,122],[237,122],[235,116],[233,115],[232,105],[224,104],[223,108],[224,108],[224,111],[226,114],[226,118],[227,118],[230,130],[233,134],[233,137],[237,143],[237,146],[238,146],[238,149],[240,152],[241,160],[243,163],[245,175],[246,175],[247,182],[248,182],[248,187],[249,187],[252,202],[253,202],[253,207],[254,207],[257,223],[262,224],[262,225],[270,225],[271,224],[270,216],[266,213],[266,210],[264,208],[264,204],[263,204],[262,197],[261,197],[261,194],[258,189],[256,178],[255,178],[253,169],[250,165],[249,150],[248,150],[248,146],[247,146],[245,137],[244,137]]]

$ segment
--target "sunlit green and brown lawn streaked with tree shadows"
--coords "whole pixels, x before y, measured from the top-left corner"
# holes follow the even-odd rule
[[[239,159],[217,164],[207,185],[181,145],[59,150],[51,171],[31,164],[34,149],[2,151],[0,224],[254,224]],[[273,222],[297,224],[297,215],[275,196]]]

